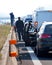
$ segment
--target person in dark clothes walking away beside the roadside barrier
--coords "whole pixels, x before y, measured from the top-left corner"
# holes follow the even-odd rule
[[[22,20],[20,20],[20,17],[18,17],[18,20],[16,21],[16,29],[18,32],[19,40],[21,40],[21,35],[23,38],[23,28],[24,28],[24,23]]]

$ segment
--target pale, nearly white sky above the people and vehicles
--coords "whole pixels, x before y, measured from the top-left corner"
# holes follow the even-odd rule
[[[0,17],[9,16],[10,12],[15,17],[25,16],[40,7],[52,9],[52,0],[0,0]]]

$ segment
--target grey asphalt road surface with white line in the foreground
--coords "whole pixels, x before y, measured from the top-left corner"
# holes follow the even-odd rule
[[[24,42],[16,44],[19,48],[19,57],[16,57],[18,65],[52,65],[52,51],[37,57],[31,47],[25,47]]]

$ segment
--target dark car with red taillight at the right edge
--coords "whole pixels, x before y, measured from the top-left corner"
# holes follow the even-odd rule
[[[52,22],[44,22],[37,33],[35,53],[39,56],[49,51],[52,51]]]

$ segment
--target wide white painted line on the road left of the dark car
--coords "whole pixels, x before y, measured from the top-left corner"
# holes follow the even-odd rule
[[[30,56],[31,56],[31,59],[32,59],[32,62],[34,65],[42,65],[41,62],[39,61],[39,59],[37,58],[37,56],[35,55],[34,51],[32,50],[31,47],[26,47]]]

